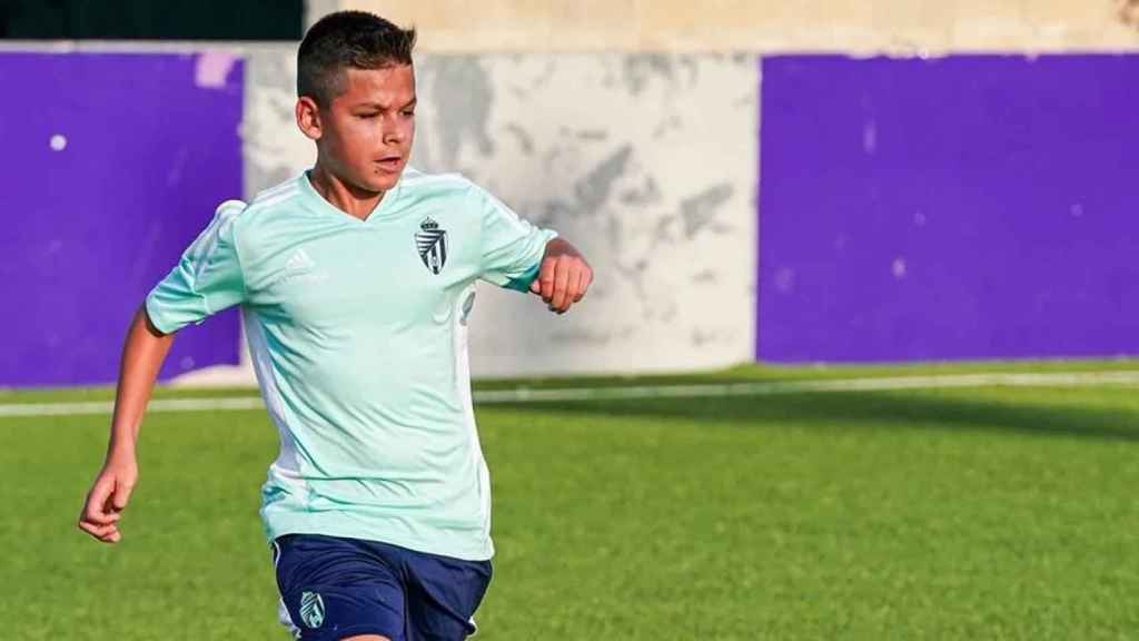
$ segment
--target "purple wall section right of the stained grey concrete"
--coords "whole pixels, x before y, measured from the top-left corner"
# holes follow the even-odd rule
[[[1139,354],[1139,56],[762,62],[757,357]]]

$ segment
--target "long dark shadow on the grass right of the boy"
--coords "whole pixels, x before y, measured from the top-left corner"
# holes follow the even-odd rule
[[[560,401],[510,407],[606,416],[703,419],[753,427],[846,429],[890,425],[1139,441],[1139,413],[1136,412],[1084,408],[1072,404],[1001,403],[912,392]]]

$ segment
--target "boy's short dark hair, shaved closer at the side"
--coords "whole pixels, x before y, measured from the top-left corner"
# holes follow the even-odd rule
[[[296,94],[329,105],[343,91],[347,68],[410,65],[416,30],[367,11],[329,14],[309,29],[296,52]]]

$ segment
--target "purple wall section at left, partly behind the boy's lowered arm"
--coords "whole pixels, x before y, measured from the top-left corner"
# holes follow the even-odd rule
[[[241,63],[0,54],[0,387],[112,382],[134,309],[241,196]],[[237,363],[238,323],[181,332],[163,376]]]

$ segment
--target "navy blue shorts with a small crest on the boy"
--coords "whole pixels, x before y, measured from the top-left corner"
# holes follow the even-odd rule
[[[314,534],[277,538],[273,565],[281,623],[304,641],[459,641],[474,634],[491,581],[490,561]]]

